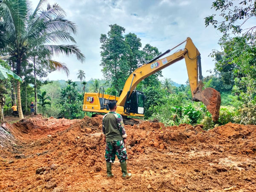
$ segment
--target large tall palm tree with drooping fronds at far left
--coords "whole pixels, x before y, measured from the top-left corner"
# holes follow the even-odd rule
[[[1,0],[0,15],[5,23],[7,47],[9,55],[3,57],[16,64],[16,73],[20,76],[21,62],[34,57],[46,58],[47,64],[61,69],[61,63],[52,61],[52,55],[75,54],[77,59],[84,61],[84,55],[76,45],[57,45],[59,42],[72,41],[76,33],[76,25],[65,19],[64,10],[58,5],[47,4],[47,0],[39,0],[34,12],[31,12],[27,0]],[[54,44],[49,44],[54,42]],[[17,81],[17,100],[20,119],[23,113],[20,101],[20,82]]]

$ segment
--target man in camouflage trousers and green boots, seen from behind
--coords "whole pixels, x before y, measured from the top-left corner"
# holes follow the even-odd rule
[[[113,177],[111,172],[111,163],[114,163],[115,158],[119,159],[122,178],[128,179],[131,173],[127,172],[127,154],[126,154],[126,133],[122,121],[122,116],[116,113],[116,101],[109,101],[108,107],[110,112],[105,114],[102,119],[102,131],[104,134],[104,141],[106,142],[105,158],[107,163],[107,176]]]

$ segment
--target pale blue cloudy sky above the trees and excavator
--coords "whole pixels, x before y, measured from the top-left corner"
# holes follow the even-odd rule
[[[70,76],[53,72],[50,80],[77,81],[78,70],[84,70],[86,81],[91,78],[102,79],[100,56],[101,34],[106,34],[110,24],[124,27],[125,33],[135,33],[142,42],[157,47],[161,52],[175,47],[187,37],[192,38],[201,52],[203,76],[214,68],[214,61],[208,55],[212,49],[220,49],[218,40],[221,36],[212,26],[205,27],[204,17],[215,13],[210,9],[212,0],[48,0],[58,3],[66,12],[67,19],[78,26],[75,39],[86,56],[84,64],[75,57],[56,57],[70,69]],[[32,0],[35,8],[38,0]],[[183,46],[177,48],[182,49]],[[176,50],[177,50],[176,49]],[[185,61],[181,60],[163,69],[163,78],[185,84],[188,79]],[[162,79],[163,79],[162,78]]]

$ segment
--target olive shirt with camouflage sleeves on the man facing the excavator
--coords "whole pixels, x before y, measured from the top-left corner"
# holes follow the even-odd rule
[[[122,116],[116,112],[108,112],[102,119],[102,132],[106,141],[123,140],[127,135]]]

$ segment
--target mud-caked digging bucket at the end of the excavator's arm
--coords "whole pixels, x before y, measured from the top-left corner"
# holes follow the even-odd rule
[[[218,121],[220,113],[221,94],[210,87],[202,90],[203,85],[204,84],[200,81],[198,89],[194,93],[194,100],[203,102],[207,110],[212,114],[212,120],[216,122]]]

